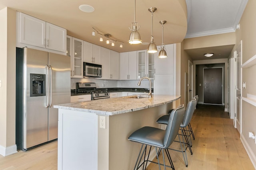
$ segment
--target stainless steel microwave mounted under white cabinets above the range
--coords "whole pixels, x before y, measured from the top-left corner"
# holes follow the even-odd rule
[[[102,77],[102,65],[84,62],[84,77]]]

